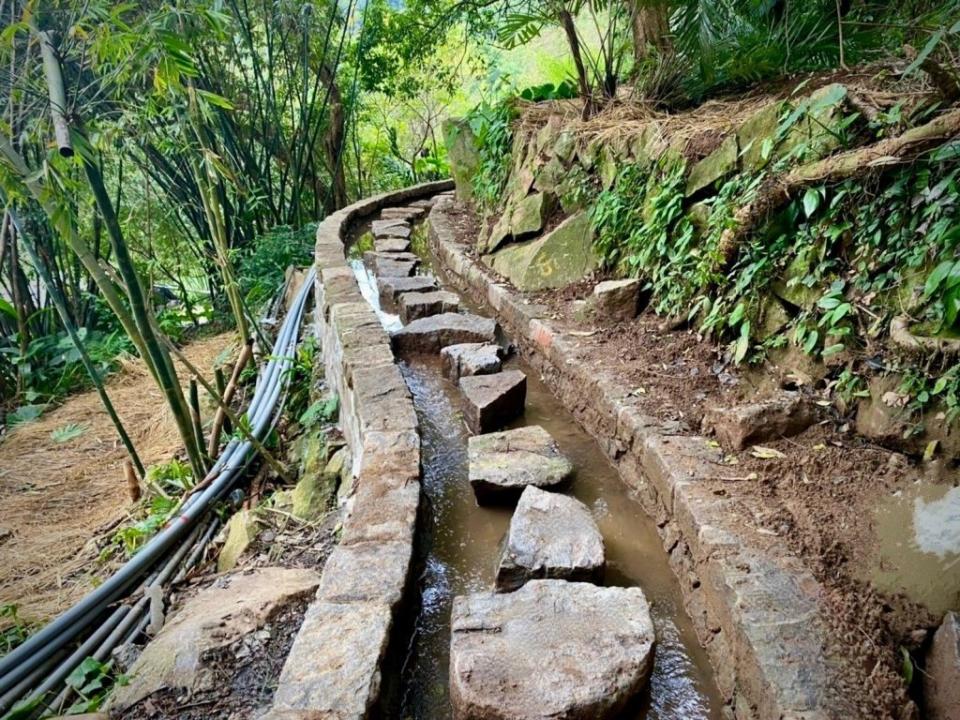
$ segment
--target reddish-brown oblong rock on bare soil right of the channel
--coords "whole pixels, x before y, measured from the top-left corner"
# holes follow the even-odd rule
[[[817,421],[814,408],[799,393],[784,392],[761,402],[711,407],[703,416],[704,432],[712,432],[727,450],[798,435]]]

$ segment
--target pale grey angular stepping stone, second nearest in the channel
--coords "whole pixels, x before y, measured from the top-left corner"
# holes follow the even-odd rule
[[[528,485],[510,519],[497,590],[510,592],[542,578],[594,582],[603,565],[603,536],[587,506]]]

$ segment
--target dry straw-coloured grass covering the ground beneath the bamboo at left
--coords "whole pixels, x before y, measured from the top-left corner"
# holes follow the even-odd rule
[[[217,335],[185,354],[209,373],[234,342],[232,334]],[[187,372],[178,371],[186,381]],[[145,465],[178,452],[176,426],[142,363],[126,362],[107,391]],[[54,442],[50,433],[68,423],[84,427],[83,434]],[[94,391],[68,398],[0,442],[0,604],[15,603],[22,618],[44,621],[92,589],[103,570],[93,541],[120,523],[130,506],[125,459]]]

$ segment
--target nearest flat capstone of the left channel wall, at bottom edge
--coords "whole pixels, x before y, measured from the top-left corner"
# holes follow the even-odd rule
[[[380,696],[390,626],[390,608],[383,603],[313,603],[284,663],[268,717],[365,720]]]

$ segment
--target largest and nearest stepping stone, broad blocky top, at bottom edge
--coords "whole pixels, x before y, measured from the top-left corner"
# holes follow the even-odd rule
[[[646,684],[654,631],[640,588],[532,580],[453,601],[455,718],[614,717]]]

